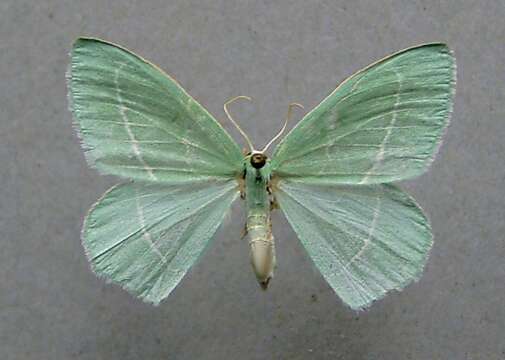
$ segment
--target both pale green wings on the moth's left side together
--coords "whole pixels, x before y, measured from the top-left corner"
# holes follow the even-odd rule
[[[174,80],[116,45],[79,39],[70,106],[90,165],[137,183],[111,189],[82,239],[93,270],[159,303],[212,238],[238,195],[243,155]]]

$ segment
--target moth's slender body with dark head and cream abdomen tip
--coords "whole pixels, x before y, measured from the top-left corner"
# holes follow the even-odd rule
[[[246,230],[251,248],[251,264],[262,289],[267,289],[275,268],[275,243],[270,219],[268,160],[254,153],[245,161]]]

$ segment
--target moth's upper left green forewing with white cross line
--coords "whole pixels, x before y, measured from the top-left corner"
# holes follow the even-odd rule
[[[88,162],[104,174],[175,183],[242,168],[240,148],[202,106],[117,45],[75,42],[69,98]]]

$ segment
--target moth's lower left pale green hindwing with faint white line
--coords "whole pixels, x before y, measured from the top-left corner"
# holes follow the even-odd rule
[[[235,180],[113,187],[84,223],[88,260],[99,276],[158,304],[197,260],[237,194]]]

